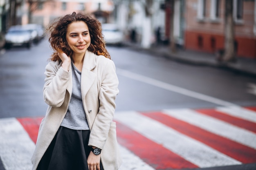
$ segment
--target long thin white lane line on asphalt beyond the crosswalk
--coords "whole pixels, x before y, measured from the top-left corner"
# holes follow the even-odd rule
[[[204,94],[201,94],[201,93],[190,91],[190,90],[187,90],[185,88],[174,86],[172,84],[161,82],[159,80],[152,79],[152,78],[146,77],[144,75],[139,75],[139,74],[136,74],[136,73],[132,73],[130,71],[126,71],[126,70],[123,70],[123,69],[120,69],[120,68],[117,68],[117,74],[128,77],[130,79],[135,79],[139,82],[144,82],[144,83],[147,83],[147,84],[150,84],[150,85],[153,85],[153,86],[157,86],[159,88],[163,88],[163,89],[166,89],[168,91],[173,91],[175,93],[180,93],[182,95],[186,95],[186,96],[193,97],[193,98],[196,98],[196,99],[200,99],[200,100],[203,100],[203,101],[218,104],[220,106],[236,106],[233,103],[230,103],[230,102],[227,102],[227,101],[224,101],[224,100],[221,100],[221,99],[217,99],[215,97],[211,97],[211,96],[208,96],[208,95],[204,95]]]

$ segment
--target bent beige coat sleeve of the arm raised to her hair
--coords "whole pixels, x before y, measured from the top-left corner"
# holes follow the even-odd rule
[[[60,107],[63,104],[70,74],[61,67],[61,63],[49,62],[45,67],[43,97],[49,106]]]

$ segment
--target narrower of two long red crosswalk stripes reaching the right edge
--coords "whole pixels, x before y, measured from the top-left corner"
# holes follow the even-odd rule
[[[204,115],[215,117],[217,119],[226,121],[229,124],[233,124],[235,126],[239,126],[240,128],[244,128],[246,130],[250,130],[250,131],[256,133],[256,123],[254,123],[252,121],[246,121],[244,119],[239,119],[238,117],[233,117],[231,115],[227,115],[225,113],[222,113],[222,112],[219,112],[219,111],[213,110],[213,109],[199,109],[199,110],[195,110],[195,111],[202,113]]]

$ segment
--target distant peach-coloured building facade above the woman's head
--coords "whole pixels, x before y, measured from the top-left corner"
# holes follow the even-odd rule
[[[110,22],[114,9],[112,0],[45,0],[33,5],[31,23],[43,26],[47,26],[54,18],[70,14],[73,11],[92,13],[101,22]],[[21,24],[29,23],[29,3],[24,3],[21,11]]]

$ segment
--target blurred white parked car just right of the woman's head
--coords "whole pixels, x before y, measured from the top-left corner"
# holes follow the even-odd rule
[[[116,24],[102,24],[102,34],[106,44],[122,45],[124,33]]]

